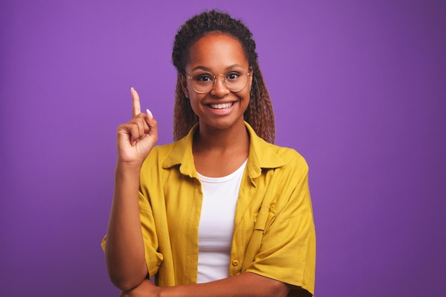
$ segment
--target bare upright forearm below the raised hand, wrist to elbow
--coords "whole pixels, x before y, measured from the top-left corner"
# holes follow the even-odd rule
[[[115,192],[105,241],[110,280],[123,291],[147,276],[138,204],[140,167],[120,165],[115,170]]]

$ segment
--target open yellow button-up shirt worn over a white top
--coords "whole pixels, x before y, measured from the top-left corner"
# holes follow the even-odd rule
[[[308,166],[295,150],[271,145],[245,125],[249,156],[237,201],[229,276],[249,271],[313,293],[316,235]],[[159,286],[197,281],[202,191],[192,156],[196,129],[182,140],[154,147],[141,168],[145,260]]]

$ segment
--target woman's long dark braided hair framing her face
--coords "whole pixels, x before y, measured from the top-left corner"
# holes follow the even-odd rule
[[[261,75],[257,61],[256,43],[252,33],[242,21],[232,19],[229,14],[211,10],[193,16],[183,24],[175,36],[172,50],[172,62],[177,68],[177,87],[175,89],[175,108],[173,136],[174,140],[187,135],[190,128],[198,122],[198,117],[190,106],[189,100],[182,92],[181,78],[189,62],[191,46],[199,38],[209,33],[218,32],[237,38],[242,43],[244,54],[252,68],[253,79],[249,106],[244,113],[244,120],[254,128],[257,135],[267,142],[274,143],[274,113],[268,90]]]

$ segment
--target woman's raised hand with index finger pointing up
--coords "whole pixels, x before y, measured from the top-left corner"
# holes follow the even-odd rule
[[[125,165],[141,166],[155,142],[158,140],[157,121],[150,110],[141,113],[140,96],[131,89],[133,118],[118,126],[118,162]]]

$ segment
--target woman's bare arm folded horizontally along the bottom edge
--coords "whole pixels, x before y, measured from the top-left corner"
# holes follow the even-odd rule
[[[286,283],[245,272],[219,281],[168,288],[157,287],[147,280],[120,297],[285,297],[289,290]]]

